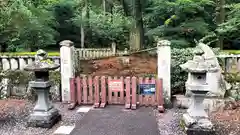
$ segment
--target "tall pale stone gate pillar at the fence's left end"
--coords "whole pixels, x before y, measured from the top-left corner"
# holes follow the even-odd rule
[[[64,40],[60,42],[61,92],[62,101],[65,103],[70,102],[70,78],[75,76],[75,48],[73,45],[73,42],[70,40]]]

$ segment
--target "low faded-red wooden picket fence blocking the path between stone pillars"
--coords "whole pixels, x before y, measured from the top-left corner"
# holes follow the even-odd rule
[[[158,106],[163,108],[162,79],[142,77],[99,77],[83,76],[70,79],[71,103],[76,105],[93,104],[94,107],[105,107],[106,104],[125,105],[126,109],[138,106]],[[119,90],[110,88],[110,82],[117,81]],[[122,82],[122,83],[121,83]],[[154,95],[141,95],[138,84],[156,84]],[[122,90],[121,90],[122,89]]]

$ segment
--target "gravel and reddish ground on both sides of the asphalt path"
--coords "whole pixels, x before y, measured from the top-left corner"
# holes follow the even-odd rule
[[[26,100],[0,100],[0,135],[52,135],[59,126],[74,125],[84,115],[76,113],[77,108],[73,111],[68,110],[66,104],[54,103],[54,106],[60,111],[62,121],[51,129],[32,128],[26,126],[26,121],[34,104]],[[162,114],[155,110],[160,135],[185,135],[179,126],[179,121],[185,111],[173,108]],[[236,107],[210,114],[210,118],[216,126],[217,135],[240,135],[239,113],[240,102]]]

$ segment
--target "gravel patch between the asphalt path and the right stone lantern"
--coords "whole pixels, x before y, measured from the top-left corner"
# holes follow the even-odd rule
[[[165,113],[156,111],[160,135],[185,135],[179,126],[180,119],[185,111],[176,108],[166,110]]]

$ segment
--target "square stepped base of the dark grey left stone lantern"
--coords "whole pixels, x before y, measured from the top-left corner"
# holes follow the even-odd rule
[[[29,127],[51,128],[58,121],[61,120],[61,115],[55,108],[46,112],[34,111],[28,119],[27,125]]]

